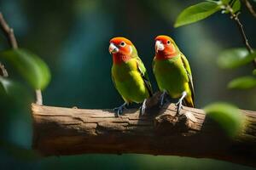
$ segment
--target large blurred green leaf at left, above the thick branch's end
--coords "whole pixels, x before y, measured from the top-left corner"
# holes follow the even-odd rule
[[[44,89],[49,84],[49,68],[38,55],[26,49],[13,49],[1,52],[0,57],[14,65],[33,88]]]

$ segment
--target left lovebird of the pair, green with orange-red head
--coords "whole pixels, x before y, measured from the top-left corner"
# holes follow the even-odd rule
[[[108,50],[113,58],[111,69],[113,84],[125,100],[123,105],[114,108],[117,111],[115,116],[119,116],[125,106],[132,102],[143,103],[141,106],[143,115],[146,101],[152,96],[153,91],[143,61],[137,54],[137,49],[127,38],[114,37],[110,40]]]

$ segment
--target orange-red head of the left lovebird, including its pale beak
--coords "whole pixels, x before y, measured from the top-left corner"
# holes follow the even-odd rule
[[[130,40],[125,37],[114,37],[109,43],[108,51],[113,56],[114,64],[120,64],[131,59],[133,44]]]

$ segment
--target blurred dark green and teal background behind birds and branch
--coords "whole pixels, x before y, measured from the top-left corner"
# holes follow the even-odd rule
[[[15,30],[20,47],[41,56],[52,72],[44,90],[44,105],[79,108],[113,108],[123,101],[110,76],[112,58],[108,41],[128,37],[148,68],[154,37],[173,37],[187,56],[193,71],[198,108],[217,100],[230,101],[241,109],[256,110],[256,91],[230,91],[227,82],[253,70],[247,65],[236,71],[222,71],[216,65],[225,48],[243,47],[234,21],[214,14],[207,20],[173,28],[177,14],[194,0],[0,0],[0,11]],[[253,4],[256,6],[256,3]],[[256,20],[241,9],[249,41],[256,47]],[[0,34],[0,49],[9,45]],[[9,77],[23,81],[6,65]],[[23,81],[24,82],[24,81]],[[24,85],[25,84],[25,85]],[[32,89],[26,82],[14,96],[0,97],[0,169],[253,169],[224,161],[179,156],[84,155],[38,158],[28,151],[32,143],[30,104]],[[218,141],[216,141],[218,144]],[[17,146],[20,146],[17,148]]]

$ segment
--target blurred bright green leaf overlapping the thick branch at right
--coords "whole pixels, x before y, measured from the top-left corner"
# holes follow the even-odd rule
[[[211,105],[207,105],[204,108],[207,116],[217,122],[220,127],[224,129],[224,132],[230,136],[235,137],[243,130],[245,125],[245,116],[234,105],[230,105],[224,102],[217,102]]]

